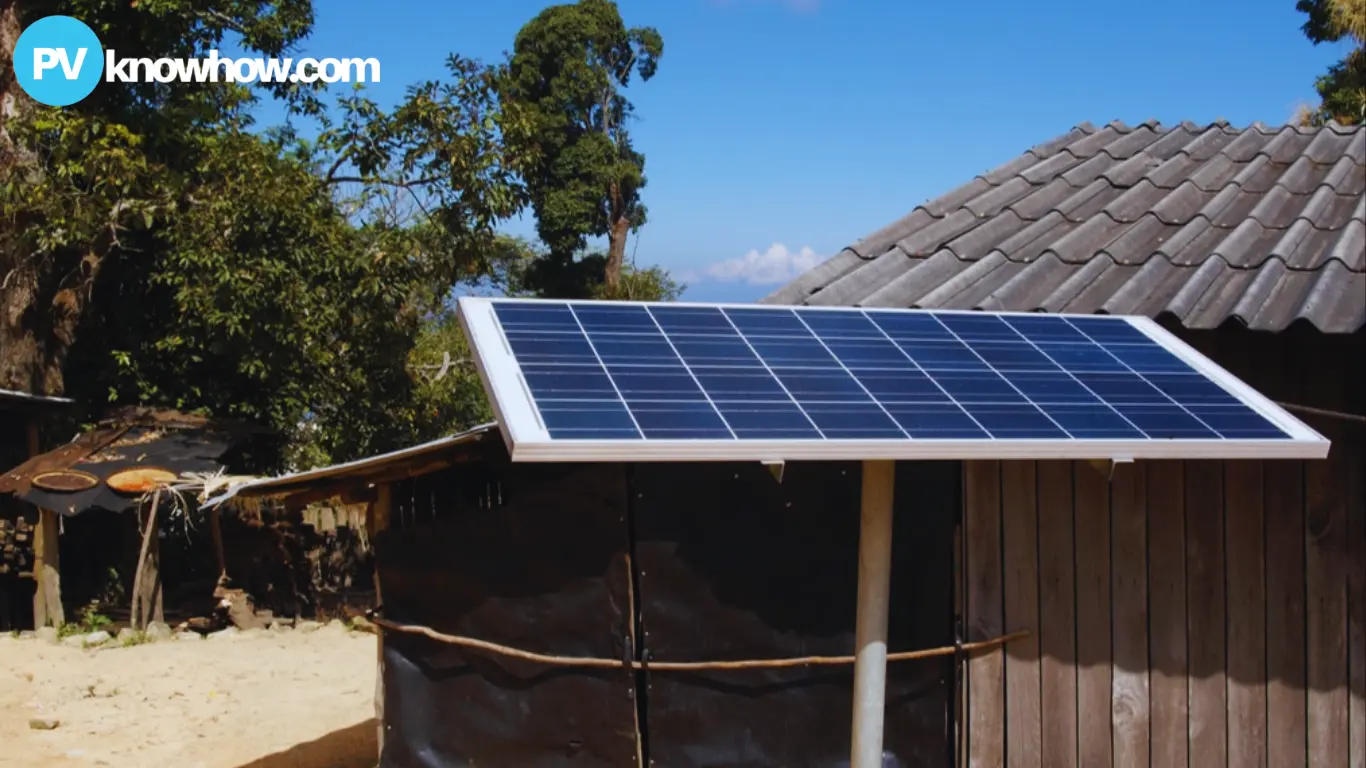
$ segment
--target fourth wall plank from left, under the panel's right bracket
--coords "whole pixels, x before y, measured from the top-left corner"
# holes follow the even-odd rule
[[[1109,481],[1086,462],[1076,482],[1076,752],[1078,764],[1104,768],[1111,734],[1111,508]]]

